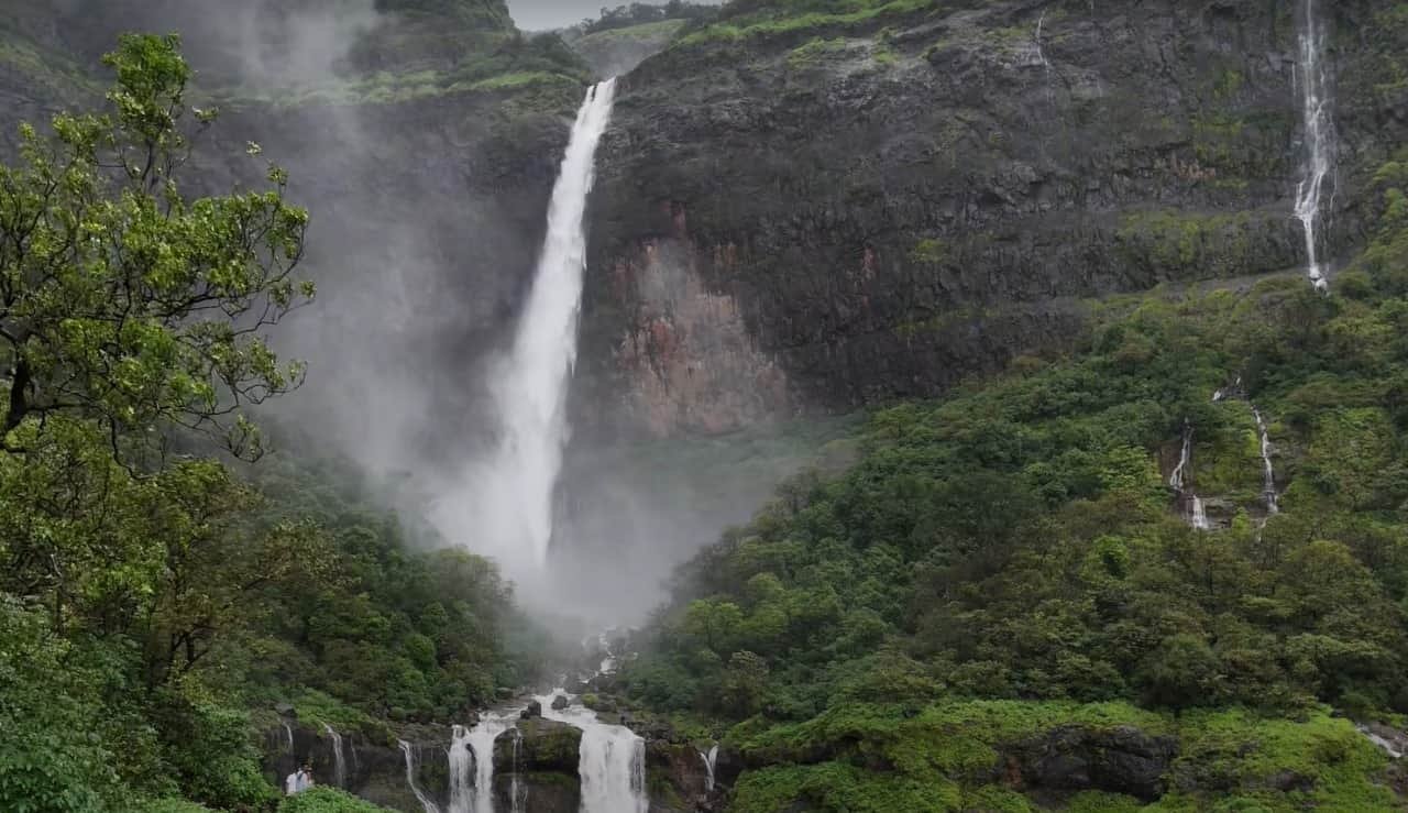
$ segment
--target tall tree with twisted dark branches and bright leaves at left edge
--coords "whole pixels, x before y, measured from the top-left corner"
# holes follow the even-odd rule
[[[260,331],[313,296],[294,278],[308,216],[276,166],[265,192],[183,197],[189,130],[214,111],[186,106],[175,37],[122,37],[104,62],[113,111],[58,116],[49,138],[25,125],[18,165],[0,168],[4,448],[37,442],[15,437],[27,421],[77,416],[120,458],[134,433],[168,427],[256,457],[242,410],[303,378]]]

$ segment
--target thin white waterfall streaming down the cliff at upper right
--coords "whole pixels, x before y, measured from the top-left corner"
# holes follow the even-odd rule
[[[1315,13],[1315,0],[1304,3],[1298,80],[1301,118],[1305,127],[1305,166],[1295,189],[1295,217],[1305,231],[1305,271],[1318,290],[1326,290],[1329,283],[1319,261],[1316,227],[1325,179],[1332,169],[1335,124],[1331,117],[1329,77],[1325,69],[1325,30]]]

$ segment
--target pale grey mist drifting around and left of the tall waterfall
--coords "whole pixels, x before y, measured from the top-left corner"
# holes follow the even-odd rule
[[[348,461],[417,544],[496,554],[520,602],[545,616],[638,621],[674,564],[745,519],[794,466],[765,461],[763,475],[731,479],[725,455],[662,478],[677,441],[620,447],[576,431],[546,562],[504,551],[491,528],[522,506],[496,482],[503,427],[490,393],[531,286],[570,117],[531,118],[505,138],[484,110],[458,107],[472,101],[282,103],[345,82],[362,38],[398,24],[373,0],[65,1],[110,31],[175,25],[201,87],[262,100],[227,110],[193,169],[228,190],[258,182],[263,159],[279,162],[313,214],[304,269],[318,297],[275,337],[308,362],[308,379],[263,417],[297,454]],[[593,11],[514,6],[522,25]],[[244,155],[246,141],[263,147],[259,161]],[[715,483],[710,495],[696,499],[691,476]]]

